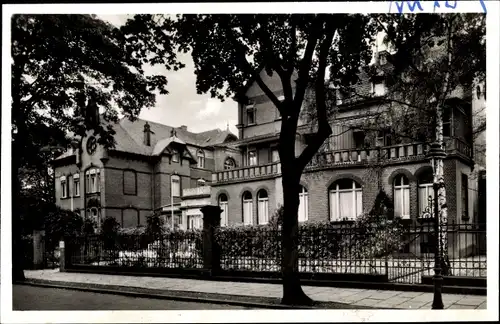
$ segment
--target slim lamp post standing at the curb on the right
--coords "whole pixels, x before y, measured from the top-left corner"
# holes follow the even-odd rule
[[[438,161],[439,159],[443,159],[446,156],[446,152],[442,148],[439,143],[432,143],[427,153],[428,158],[431,161],[432,171],[434,174],[433,181],[433,189],[434,189],[434,234],[436,238],[435,250],[434,250],[434,277],[432,278],[434,281],[434,297],[432,300],[432,309],[443,309],[443,296],[442,296],[442,288],[443,288],[443,275],[441,274],[441,244],[440,244],[440,217],[439,217],[439,201],[438,201],[438,190],[439,184],[437,182],[437,170],[438,170]]]

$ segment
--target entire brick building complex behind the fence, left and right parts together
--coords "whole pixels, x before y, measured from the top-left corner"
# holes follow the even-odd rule
[[[376,64],[384,70],[385,52]],[[282,99],[277,76],[261,72]],[[356,97],[336,92],[333,135],[301,178],[299,221],[344,222],[368,212],[380,190],[394,202],[395,216],[417,221],[429,206],[433,170],[428,144],[400,141],[391,125],[370,134],[356,128],[384,106],[383,74],[363,74]],[[481,92],[481,91],[479,91]],[[445,114],[447,157],[444,176],[449,220],[485,222],[478,218],[471,107],[477,95],[459,93]],[[479,94],[480,96],[481,94]],[[115,217],[124,227],[144,224],[147,215],[174,215],[181,228],[201,226],[199,208],[221,206],[222,225],[265,224],[283,204],[278,138],[279,112],[260,87],[249,80],[238,96],[238,137],[228,131],[191,133],[186,127],[122,119],[114,125],[116,147],[104,150],[89,134],[84,150],[70,150],[55,161],[57,204],[102,220]],[[479,100],[482,98],[479,97]],[[300,154],[314,131],[307,114],[296,136]]]

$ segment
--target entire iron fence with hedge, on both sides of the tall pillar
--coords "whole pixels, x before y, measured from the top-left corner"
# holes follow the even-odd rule
[[[434,274],[436,235],[430,219],[358,226],[304,224],[299,227],[298,271],[306,275],[376,275],[386,281],[421,284]],[[486,277],[484,226],[450,223],[445,275]],[[67,240],[67,259],[74,265],[122,268],[202,269],[203,251],[217,247],[215,262],[223,271],[281,272],[281,230],[271,226],[217,228],[211,240],[202,231],[146,235],[93,235]],[[203,246],[215,244],[214,246]],[[372,277],[373,278],[373,277]]]

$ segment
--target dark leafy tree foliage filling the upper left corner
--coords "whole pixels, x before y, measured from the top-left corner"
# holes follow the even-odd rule
[[[93,129],[100,144],[112,147],[109,123],[118,113],[134,119],[143,107],[154,106],[157,92],[167,93],[166,77],[144,75],[143,65],[183,65],[167,42],[138,42],[134,35],[144,32],[137,26],[119,29],[94,15],[20,14],[10,23],[15,249],[22,227],[33,219],[20,210],[22,199],[35,195],[32,200],[41,201],[43,191],[53,197],[47,161],[67,148],[68,135]],[[96,123],[99,109],[104,124]],[[23,192],[26,185],[39,192]],[[22,279],[20,265],[15,258],[14,275]]]

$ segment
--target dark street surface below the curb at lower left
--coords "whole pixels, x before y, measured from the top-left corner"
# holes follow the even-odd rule
[[[220,304],[180,302],[98,294],[69,289],[13,286],[14,310],[200,310],[249,309]]]

